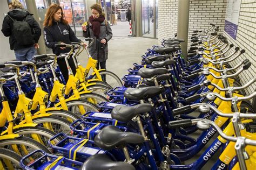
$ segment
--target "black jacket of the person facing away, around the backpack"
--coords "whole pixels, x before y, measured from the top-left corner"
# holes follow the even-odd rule
[[[22,21],[23,19],[26,18],[26,16],[28,16],[28,18],[26,19],[26,22],[29,23],[29,25],[31,26],[31,30],[33,33],[33,38],[35,40],[35,43],[38,42],[40,36],[41,36],[41,28],[39,26],[39,24],[37,23],[36,19],[32,17],[32,14],[29,13],[28,11],[22,10],[22,9],[14,9],[8,12],[8,15],[16,20]],[[8,16],[4,17],[4,21],[3,21],[3,26],[2,26],[2,32],[4,34],[5,37],[10,37],[9,38],[9,42],[10,42],[10,48],[11,49],[21,49],[21,48],[27,48],[27,47],[31,47],[33,46],[35,43],[30,44],[30,45],[19,45],[12,33],[12,20],[11,18]]]

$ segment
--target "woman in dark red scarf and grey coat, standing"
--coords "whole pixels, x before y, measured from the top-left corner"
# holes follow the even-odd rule
[[[105,14],[99,4],[91,6],[92,15],[89,17],[87,25],[82,25],[83,36],[95,39],[89,47],[89,53],[93,59],[98,60],[97,69],[106,69],[106,60],[109,49],[107,42],[112,38],[112,30],[109,22],[105,20]],[[105,80],[105,77],[103,77]]]

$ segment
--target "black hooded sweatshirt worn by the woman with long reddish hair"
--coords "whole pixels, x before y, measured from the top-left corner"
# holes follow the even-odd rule
[[[44,40],[45,45],[48,48],[52,48],[52,52],[56,55],[70,51],[69,48],[57,48],[56,44],[60,44],[60,42],[64,42],[65,44],[71,44],[71,42],[81,42],[80,39],[76,38],[71,27],[63,24],[62,22],[53,22],[52,26],[44,27]]]

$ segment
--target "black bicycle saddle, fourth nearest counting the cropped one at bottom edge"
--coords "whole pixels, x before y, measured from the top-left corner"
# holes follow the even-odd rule
[[[163,93],[164,89],[160,87],[147,87],[142,89],[127,88],[124,92],[124,96],[130,100],[143,100],[151,98]]]

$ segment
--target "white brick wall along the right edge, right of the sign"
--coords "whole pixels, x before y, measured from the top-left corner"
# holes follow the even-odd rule
[[[226,32],[224,35],[230,43],[245,49],[245,53],[232,62],[233,66],[244,59],[249,59],[252,62],[252,66],[240,75],[241,83],[245,84],[256,76],[256,1],[241,1],[237,39],[234,40]],[[252,94],[253,91],[255,91],[255,85],[246,89],[247,94]]]

